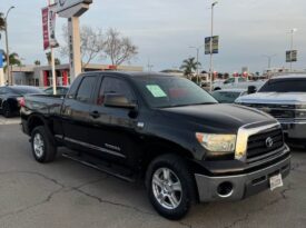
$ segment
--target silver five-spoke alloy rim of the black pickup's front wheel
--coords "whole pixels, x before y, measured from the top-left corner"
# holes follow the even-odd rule
[[[176,209],[182,197],[181,184],[176,174],[168,168],[159,168],[152,176],[154,196],[166,209]]]

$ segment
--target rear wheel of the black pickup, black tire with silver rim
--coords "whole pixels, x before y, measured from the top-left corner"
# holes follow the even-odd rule
[[[57,156],[57,147],[52,143],[43,126],[33,129],[31,133],[31,147],[33,157],[38,162],[51,162]]]

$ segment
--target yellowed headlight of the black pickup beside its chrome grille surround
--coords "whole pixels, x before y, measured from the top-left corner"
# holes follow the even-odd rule
[[[234,152],[236,135],[196,133],[197,140],[210,152]]]

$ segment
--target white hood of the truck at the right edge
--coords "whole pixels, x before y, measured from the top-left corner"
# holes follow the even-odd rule
[[[282,103],[282,105],[300,105],[306,103],[305,92],[257,92],[239,97],[238,103]]]

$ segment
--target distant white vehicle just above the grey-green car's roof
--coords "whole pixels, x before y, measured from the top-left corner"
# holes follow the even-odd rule
[[[220,89],[247,89],[248,87],[253,86],[257,90],[265,83],[264,80],[258,81],[249,81],[247,78],[244,77],[231,77],[225,81],[216,81],[213,85],[213,90],[220,90]]]

